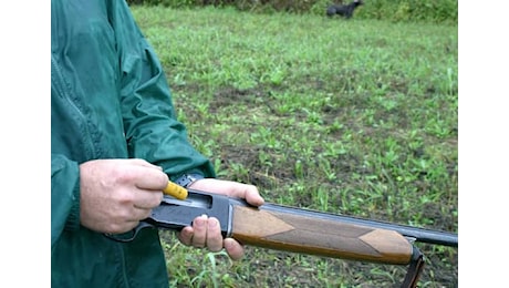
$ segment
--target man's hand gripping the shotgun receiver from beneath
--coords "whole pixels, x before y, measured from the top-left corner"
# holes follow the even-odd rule
[[[190,187],[193,189],[243,198],[253,206],[260,206],[264,203],[258,188],[249,184],[204,178],[193,183]],[[222,239],[219,222],[215,217],[208,218],[206,215],[196,217],[193,226],[187,226],[180,232],[178,239],[184,245],[208,248],[210,251],[219,251],[225,248],[233,260],[239,260],[243,256],[243,247],[240,243],[233,238]]]

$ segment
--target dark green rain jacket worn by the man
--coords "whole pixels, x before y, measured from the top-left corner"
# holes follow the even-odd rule
[[[79,165],[127,157],[173,179],[216,176],[176,120],[165,73],[125,0],[52,0],[52,287],[168,287],[156,229],[123,244],[80,225]]]

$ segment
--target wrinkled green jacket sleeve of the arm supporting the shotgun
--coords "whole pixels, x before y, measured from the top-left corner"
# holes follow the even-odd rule
[[[125,1],[113,20],[121,59],[121,103],[131,157],[159,165],[175,179],[183,173],[215,177],[214,166],[190,145],[176,120],[162,64]]]

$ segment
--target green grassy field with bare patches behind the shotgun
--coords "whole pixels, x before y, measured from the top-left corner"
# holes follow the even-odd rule
[[[271,203],[457,232],[457,25],[133,13],[221,178]],[[231,261],[162,235],[172,287],[394,287],[407,268],[258,247]],[[418,246],[419,287],[457,287],[457,249]]]

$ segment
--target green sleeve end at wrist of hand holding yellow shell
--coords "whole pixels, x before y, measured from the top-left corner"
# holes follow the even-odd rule
[[[79,228],[79,164],[60,154],[51,154],[51,248],[63,230]]]

